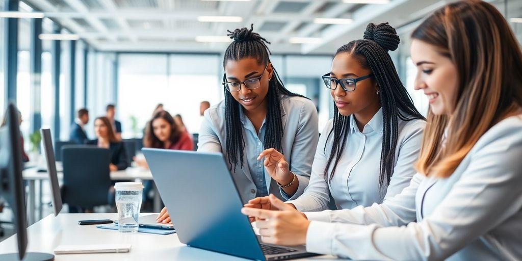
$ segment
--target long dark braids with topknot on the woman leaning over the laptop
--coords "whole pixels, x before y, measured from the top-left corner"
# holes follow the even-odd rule
[[[270,58],[268,57],[270,50],[267,44],[270,44],[265,38],[258,33],[253,32],[254,25],[251,28],[238,28],[234,31],[228,31],[228,36],[234,41],[228,46],[223,58],[223,68],[228,61],[239,61],[242,58],[255,58],[259,64],[268,65]],[[276,69],[272,66],[274,74],[268,81],[268,93],[266,94],[268,102],[268,110],[266,115],[266,129],[263,145],[265,148],[275,148],[283,153],[281,147],[281,138],[283,136],[283,125],[281,120],[281,95],[286,96],[300,96],[290,92],[279,78]],[[223,75],[223,82],[227,79],[227,75]],[[243,140],[243,126],[240,121],[241,105],[236,101],[232,94],[226,89],[225,96],[225,124],[227,136],[227,157],[232,169],[232,165],[240,162],[243,167],[243,155],[245,142]],[[239,160],[238,160],[239,158]]]

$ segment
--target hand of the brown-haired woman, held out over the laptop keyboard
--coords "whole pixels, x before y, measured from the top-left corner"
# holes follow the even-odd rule
[[[310,221],[306,216],[270,194],[270,203],[279,210],[242,208],[241,212],[256,218],[261,239],[277,245],[303,245]]]

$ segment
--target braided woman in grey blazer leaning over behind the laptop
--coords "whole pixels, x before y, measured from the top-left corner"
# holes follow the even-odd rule
[[[284,88],[270,62],[269,42],[253,27],[229,31],[229,37],[234,41],[223,59],[225,99],[205,111],[198,151],[223,153],[244,203],[269,193],[299,196],[309,183],[319,137],[315,105]],[[268,148],[284,153],[286,172],[265,171],[258,156]],[[170,221],[166,209],[158,221]]]

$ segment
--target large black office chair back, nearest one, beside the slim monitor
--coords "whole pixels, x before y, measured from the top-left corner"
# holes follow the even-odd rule
[[[111,204],[112,185],[109,149],[94,146],[64,146],[62,198],[70,206],[92,209]]]

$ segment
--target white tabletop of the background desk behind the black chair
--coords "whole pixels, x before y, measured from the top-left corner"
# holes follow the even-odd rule
[[[59,180],[63,179],[63,172],[56,173]],[[48,180],[47,172],[38,172],[37,168],[25,169],[22,172],[24,180]],[[152,180],[150,170],[140,167],[129,167],[125,170],[111,171],[111,180]]]

